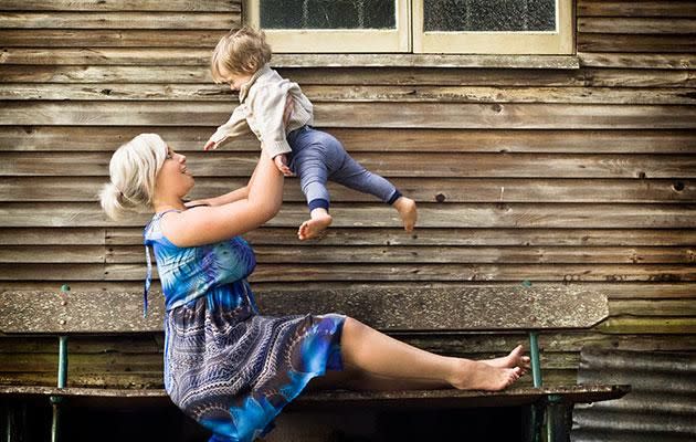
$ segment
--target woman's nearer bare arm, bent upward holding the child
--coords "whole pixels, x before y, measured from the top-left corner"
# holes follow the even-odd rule
[[[209,244],[254,230],[281,210],[283,173],[263,151],[246,188],[236,201],[165,215],[165,235],[178,246]]]

